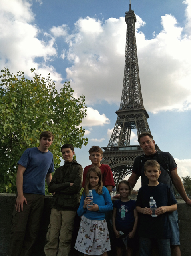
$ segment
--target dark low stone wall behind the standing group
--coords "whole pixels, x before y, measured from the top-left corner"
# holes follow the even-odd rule
[[[14,200],[15,194],[0,194],[0,256],[8,255]],[[41,222],[39,238],[34,246],[32,256],[45,256],[44,245],[46,244],[46,231],[49,224],[51,202],[52,196],[45,196],[44,214]],[[191,254],[191,206],[188,206],[185,203],[178,203],[178,214],[180,220],[179,230],[181,253],[182,256],[188,256]],[[109,253],[109,255],[112,254]],[[75,255],[77,255],[77,252],[73,251],[71,256]]]

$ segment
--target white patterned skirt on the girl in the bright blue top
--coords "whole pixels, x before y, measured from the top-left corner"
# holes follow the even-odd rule
[[[111,251],[106,221],[90,220],[83,215],[74,248],[88,255],[101,255]]]

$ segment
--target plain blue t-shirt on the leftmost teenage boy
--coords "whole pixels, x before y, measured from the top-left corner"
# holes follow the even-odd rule
[[[49,150],[45,153],[38,148],[28,148],[18,164],[26,168],[23,174],[23,192],[44,195],[46,174],[54,172],[53,154]]]

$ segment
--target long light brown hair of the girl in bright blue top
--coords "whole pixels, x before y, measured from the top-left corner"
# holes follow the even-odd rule
[[[97,194],[101,195],[103,193],[103,191],[102,191],[103,181],[102,181],[101,170],[97,166],[92,166],[88,169],[88,172],[87,172],[87,175],[86,175],[86,182],[85,182],[84,191],[83,191],[84,197],[88,195],[88,190],[90,190],[90,184],[89,184],[90,172],[94,172],[99,177],[98,185],[97,185],[97,188],[96,188]]]

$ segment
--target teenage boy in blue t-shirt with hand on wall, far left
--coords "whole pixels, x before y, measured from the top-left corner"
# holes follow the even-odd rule
[[[45,180],[49,184],[54,172],[53,154],[48,150],[53,140],[52,132],[42,132],[40,146],[26,149],[18,161],[9,256],[29,256],[38,236]]]

